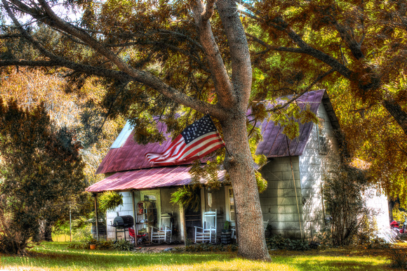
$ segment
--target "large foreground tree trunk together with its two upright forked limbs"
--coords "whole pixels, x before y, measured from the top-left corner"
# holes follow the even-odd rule
[[[218,105],[223,111],[218,119],[230,154],[225,158],[225,168],[232,180],[236,199],[239,255],[256,260],[271,260],[265,242],[258,186],[246,129],[246,112],[252,81],[248,43],[236,2],[218,0],[216,7],[227,36],[232,60],[232,79],[229,79],[223,64],[208,17],[203,16],[208,14],[208,10],[204,9],[200,0],[196,0],[192,4],[192,11],[199,30],[199,40],[211,68]]]

